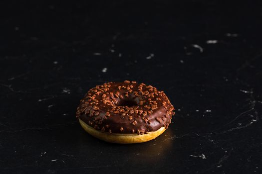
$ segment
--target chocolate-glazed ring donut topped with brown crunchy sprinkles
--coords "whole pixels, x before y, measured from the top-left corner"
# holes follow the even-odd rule
[[[76,118],[90,135],[110,143],[142,143],[162,134],[175,115],[163,91],[134,81],[91,88],[80,100]]]

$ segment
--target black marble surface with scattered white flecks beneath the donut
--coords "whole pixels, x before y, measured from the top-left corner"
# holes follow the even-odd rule
[[[0,173],[262,173],[262,3],[1,5]],[[88,135],[88,89],[164,90],[169,129],[143,144]]]

